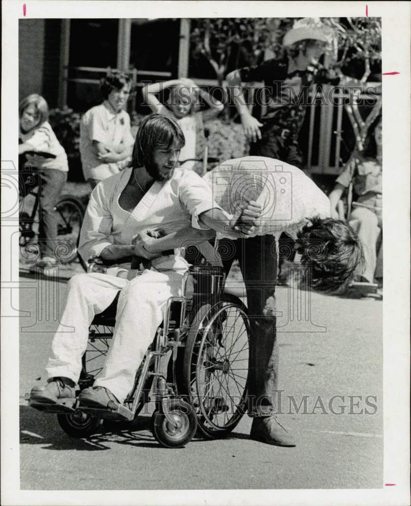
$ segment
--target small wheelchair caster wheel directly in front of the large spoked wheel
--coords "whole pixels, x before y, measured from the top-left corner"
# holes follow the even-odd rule
[[[180,399],[172,399],[168,404],[169,415],[174,424],[160,411],[152,416],[152,431],[155,439],[166,448],[181,448],[191,441],[197,430],[197,416],[194,409]]]

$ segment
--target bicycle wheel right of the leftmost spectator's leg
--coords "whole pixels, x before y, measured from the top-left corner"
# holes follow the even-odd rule
[[[77,256],[78,239],[85,214],[83,204],[75,197],[63,195],[56,204],[57,239],[56,257],[63,263]]]

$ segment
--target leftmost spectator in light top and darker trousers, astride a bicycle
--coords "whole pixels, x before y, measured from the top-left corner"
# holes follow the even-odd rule
[[[19,104],[19,168],[20,196],[38,186],[38,243],[40,265],[55,265],[57,217],[54,207],[67,181],[68,162],[50,123],[49,107],[40,95],[29,95]],[[29,168],[30,167],[30,168]]]

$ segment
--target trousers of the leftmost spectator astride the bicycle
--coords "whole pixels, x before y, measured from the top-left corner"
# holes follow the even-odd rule
[[[19,193],[25,197],[38,186],[38,244],[42,257],[55,257],[57,241],[57,216],[54,210],[67,173],[51,168],[21,167],[19,173]]]

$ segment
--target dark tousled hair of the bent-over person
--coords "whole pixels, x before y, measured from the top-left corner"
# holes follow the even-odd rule
[[[311,287],[322,292],[344,291],[364,269],[362,243],[345,222],[310,219],[298,233],[297,251],[311,267]]]

